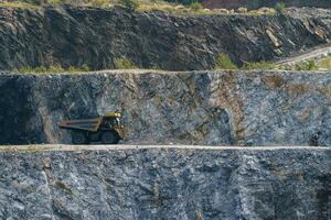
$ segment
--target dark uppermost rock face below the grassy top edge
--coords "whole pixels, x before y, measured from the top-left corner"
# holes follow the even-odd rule
[[[180,16],[121,9],[1,8],[0,69],[56,64],[104,69],[121,57],[142,68],[212,69],[221,53],[237,64],[274,61],[329,42],[330,10],[309,13]]]

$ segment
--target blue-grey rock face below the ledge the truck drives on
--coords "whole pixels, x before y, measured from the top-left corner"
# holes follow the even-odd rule
[[[329,219],[330,148],[0,153],[1,219]]]

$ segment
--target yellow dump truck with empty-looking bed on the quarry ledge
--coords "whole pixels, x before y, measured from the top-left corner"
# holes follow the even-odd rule
[[[72,130],[73,144],[117,144],[125,138],[125,125],[120,112],[109,112],[93,119],[66,120],[57,124],[61,129]]]

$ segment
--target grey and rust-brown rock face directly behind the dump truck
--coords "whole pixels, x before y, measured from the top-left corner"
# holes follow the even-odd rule
[[[127,143],[331,145],[331,75],[100,72],[0,75],[0,143],[70,143],[63,119],[121,111]]]

